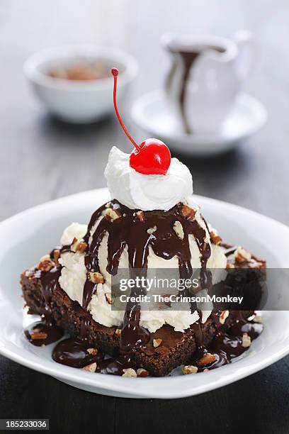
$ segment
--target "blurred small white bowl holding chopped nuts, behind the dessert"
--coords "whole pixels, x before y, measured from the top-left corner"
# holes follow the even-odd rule
[[[50,77],[52,69],[102,60],[120,69],[118,99],[122,99],[137,76],[138,65],[128,53],[98,45],[67,45],[48,48],[28,57],[23,72],[35,94],[57,118],[72,123],[89,123],[113,111],[113,79],[77,81]]]

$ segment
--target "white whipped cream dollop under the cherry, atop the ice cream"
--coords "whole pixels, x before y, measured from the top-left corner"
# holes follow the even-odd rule
[[[177,158],[165,175],[142,174],[130,167],[130,155],[111,148],[104,175],[112,199],[131,209],[168,211],[193,193],[193,179]]]

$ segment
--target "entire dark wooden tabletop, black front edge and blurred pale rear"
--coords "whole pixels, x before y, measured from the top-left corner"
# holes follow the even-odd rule
[[[259,54],[245,90],[268,124],[235,152],[200,160],[179,155],[198,194],[289,223],[289,5],[286,0],[118,0],[0,5],[0,219],[41,202],[103,187],[108,150],[130,149],[114,118],[91,126],[53,120],[22,74],[31,52],[50,45],[118,45],[141,63],[133,97],[157,89],[167,30],[256,33]],[[133,126],[138,139],[142,135]],[[0,357],[0,418],[50,418],[53,433],[289,433],[289,357],[235,384],[174,401],[89,394]]]

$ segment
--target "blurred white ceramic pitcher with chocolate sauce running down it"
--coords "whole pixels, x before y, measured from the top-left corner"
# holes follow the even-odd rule
[[[165,93],[180,130],[220,130],[251,69],[253,35],[247,30],[231,39],[166,33],[162,45],[171,56]]]

